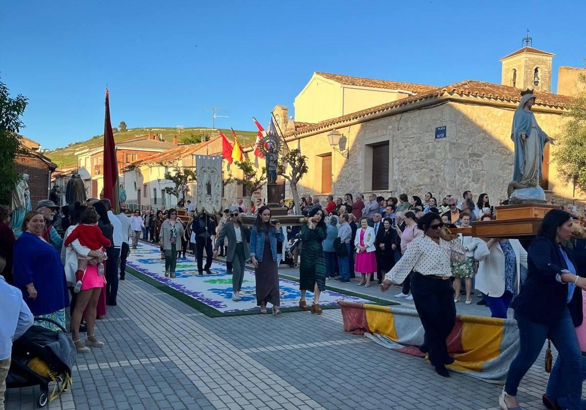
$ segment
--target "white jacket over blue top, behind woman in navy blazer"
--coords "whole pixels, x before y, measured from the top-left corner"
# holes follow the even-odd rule
[[[521,246],[519,240],[509,239],[509,242],[517,260],[515,282],[518,291],[520,266],[527,268],[527,251]],[[474,252],[474,258],[480,262],[476,274],[476,289],[485,295],[500,298],[505,293],[505,254],[500,248],[500,243],[495,242],[489,250],[486,242],[481,240]]]

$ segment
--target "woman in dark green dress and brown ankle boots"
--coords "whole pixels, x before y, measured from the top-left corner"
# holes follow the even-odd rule
[[[301,227],[301,267],[299,268],[299,289],[301,300],[299,308],[307,310],[305,292],[314,292],[314,303],[311,313],[322,314],[319,307],[319,294],[326,288],[326,262],[323,259],[322,242],[328,236],[323,211],[314,209],[309,213],[307,223]]]

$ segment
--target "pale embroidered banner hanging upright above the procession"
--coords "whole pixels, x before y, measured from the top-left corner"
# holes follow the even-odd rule
[[[211,215],[222,210],[222,157],[196,155],[197,213]]]

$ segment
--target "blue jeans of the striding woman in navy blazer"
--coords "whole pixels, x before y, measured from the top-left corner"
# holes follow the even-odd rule
[[[517,395],[517,388],[522,378],[537,360],[546,338],[549,337],[558,351],[558,357],[551,371],[550,380],[552,377],[560,380],[563,367],[564,387],[567,389],[565,398],[567,398],[568,410],[580,409],[582,353],[580,346],[578,346],[578,337],[574,330],[570,310],[566,307],[560,320],[552,326],[520,318],[517,319],[517,326],[519,326],[519,353],[517,353],[517,357],[509,367],[509,374],[505,384],[506,393],[510,396]],[[553,389],[557,389],[556,382],[554,382]]]

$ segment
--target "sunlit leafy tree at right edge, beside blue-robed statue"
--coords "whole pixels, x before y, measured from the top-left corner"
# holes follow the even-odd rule
[[[556,139],[554,161],[557,163],[558,173],[565,182],[571,180],[582,191],[586,191],[586,76],[580,74],[578,93],[570,111],[565,115],[568,121]]]

